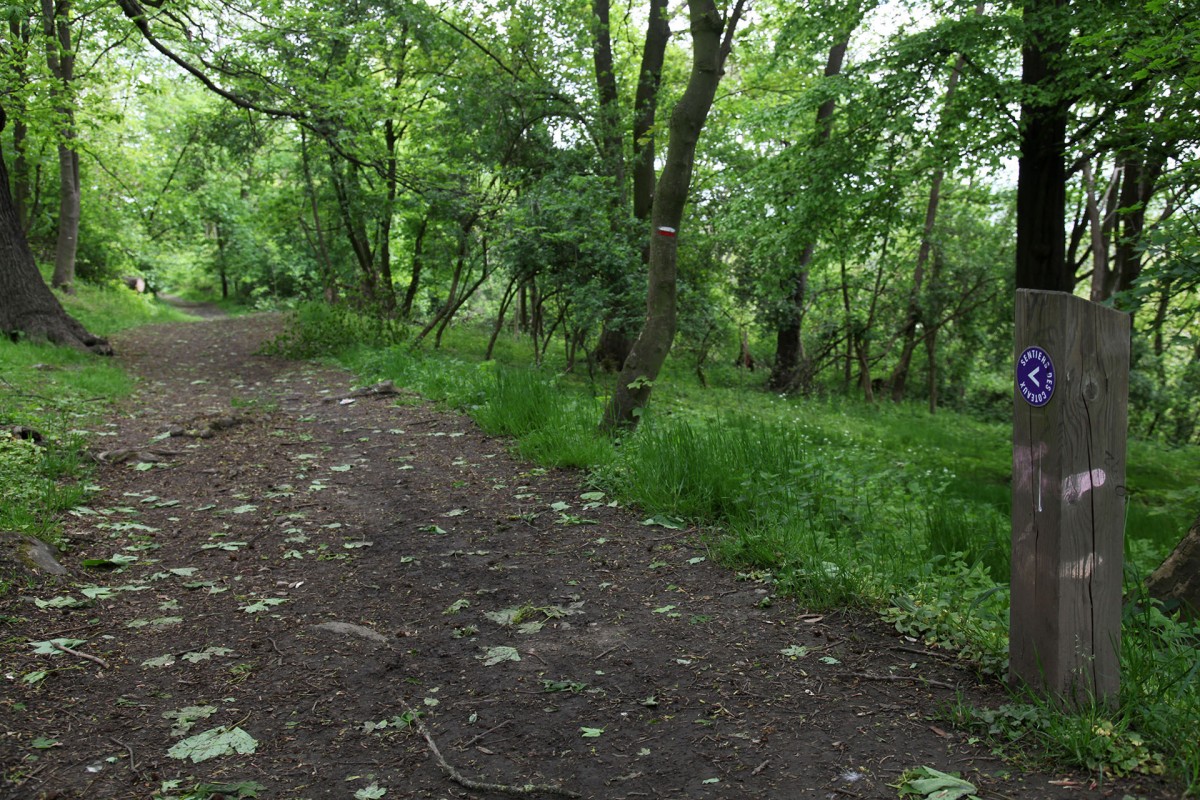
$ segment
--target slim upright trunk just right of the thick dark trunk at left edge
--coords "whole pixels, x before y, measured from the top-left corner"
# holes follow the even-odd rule
[[[73,142],[74,107],[71,82],[74,79],[74,50],[71,49],[70,0],[42,0],[46,30],[46,62],[54,77],[50,96],[59,115],[59,239],[54,251],[55,289],[74,291],[76,252],[79,246],[79,154]]]

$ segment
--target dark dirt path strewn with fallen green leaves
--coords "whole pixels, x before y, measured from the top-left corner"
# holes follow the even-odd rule
[[[413,712],[461,777],[584,798],[895,798],[920,765],[982,798],[1133,790],[1000,763],[931,720],[996,700],[967,673],[772,602],[467,419],[253,355],[275,325],[118,339],[143,384],[73,575],[0,600],[0,796],[502,796]]]

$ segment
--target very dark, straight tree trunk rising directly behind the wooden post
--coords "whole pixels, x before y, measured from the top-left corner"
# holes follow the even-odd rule
[[[1072,291],[1067,261],[1067,116],[1061,59],[1067,0],[1025,0],[1021,146],[1016,174],[1016,288]]]

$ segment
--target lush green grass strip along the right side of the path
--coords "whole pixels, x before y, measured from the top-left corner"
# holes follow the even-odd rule
[[[448,331],[439,353],[413,351],[403,332],[344,348],[355,325],[300,339],[366,380],[390,378],[461,409],[545,464],[589,480],[643,513],[710,531],[713,552],[769,575],[814,607],[877,610],[901,632],[955,651],[995,678],[1007,673],[1010,427],[960,414],[838,397],[782,398],[728,367],[702,389],[668,362],[638,431],[618,446],[595,435],[611,377],[541,369],[528,343],[500,338],[481,362],[484,333]],[[732,409],[736,409],[732,410]],[[1100,774],[1165,770],[1200,794],[1200,627],[1139,595],[1145,573],[1200,507],[1200,451],[1132,441],[1127,467],[1126,619],[1115,709],[1063,714],[1014,697],[1000,709],[947,714],[1010,754],[1049,753]],[[1032,757],[1030,754],[1026,758]]]

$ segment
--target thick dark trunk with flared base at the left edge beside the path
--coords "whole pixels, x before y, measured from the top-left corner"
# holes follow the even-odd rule
[[[0,131],[7,116],[0,106]],[[89,333],[72,319],[42,281],[34,253],[20,229],[8,191],[8,169],[0,152],[0,332],[66,344],[80,350],[110,355],[104,339]]]

